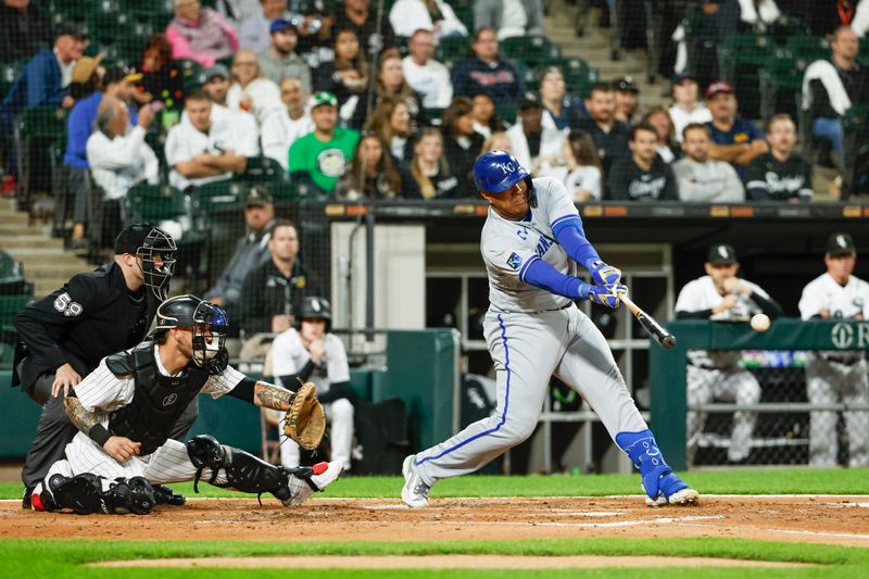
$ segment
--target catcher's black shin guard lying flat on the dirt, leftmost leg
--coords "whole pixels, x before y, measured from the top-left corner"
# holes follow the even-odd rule
[[[147,515],[154,508],[154,491],[142,477],[105,478],[84,473],[74,477],[53,475],[40,488],[34,511],[71,509],[78,515],[95,513]]]

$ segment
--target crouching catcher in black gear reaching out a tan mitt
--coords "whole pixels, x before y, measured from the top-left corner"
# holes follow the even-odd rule
[[[291,392],[239,373],[228,365],[226,329],[223,310],[180,295],[158,309],[143,342],[103,358],[64,401],[79,432],[37,484],[33,509],[144,515],[158,504],[184,504],[163,483],[193,480],[197,489],[200,479],[294,506],[335,481],[339,462],[285,468],[207,435],[169,439],[187,404],[203,393],[287,412],[287,436],[305,449],[319,444],[326,418],[316,387]]]

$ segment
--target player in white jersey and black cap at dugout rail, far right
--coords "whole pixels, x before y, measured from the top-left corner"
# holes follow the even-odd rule
[[[823,257],[827,273],[803,288],[803,319],[869,319],[869,284],[854,277],[857,249],[847,234],[833,234]],[[869,378],[866,355],[860,351],[810,352],[806,357],[806,389],[815,404],[867,404]],[[842,413],[848,436],[848,465],[869,466],[869,411]],[[809,464],[835,466],[839,455],[836,424],[832,411],[809,414]]]

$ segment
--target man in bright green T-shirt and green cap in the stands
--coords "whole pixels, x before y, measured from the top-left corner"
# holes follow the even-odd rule
[[[308,101],[314,130],[290,147],[290,174],[302,173],[324,192],[331,192],[356,149],[360,134],[340,128],[338,99],[331,92],[317,92]]]

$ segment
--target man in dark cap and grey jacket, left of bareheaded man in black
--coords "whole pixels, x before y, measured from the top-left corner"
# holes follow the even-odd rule
[[[275,205],[265,187],[256,185],[248,191],[244,198],[244,225],[245,232],[236,241],[232,256],[203,295],[205,300],[226,311],[235,336],[239,333],[238,320],[244,278],[272,257],[268,242],[275,227]]]

